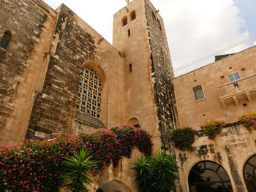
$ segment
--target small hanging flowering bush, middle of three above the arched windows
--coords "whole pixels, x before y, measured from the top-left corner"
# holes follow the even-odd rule
[[[222,120],[211,120],[209,122],[206,121],[202,128],[209,139],[214,139],[217,134],[220,134],[220,131],[222,131],[225,125],[226,123]]]

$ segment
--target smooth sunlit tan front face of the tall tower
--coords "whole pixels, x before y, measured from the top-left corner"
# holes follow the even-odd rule
[[[131,13],[136,18],[132,20]],[[127,18],[127,25],[122,21]],[[128,30],[130,36],[128,36]],[[124,58],[124,123],[138,119],[138,123],[153,135],[154,147],[160,146],[157,106],[150,69],[145,1],[134,0],[114,14],[113,46]]]

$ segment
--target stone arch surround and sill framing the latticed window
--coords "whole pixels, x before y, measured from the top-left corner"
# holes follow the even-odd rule
[[[94,128],[105,128],[107,126],[108,120],[107,120],[107,112],[108,112],[108,81],[105,75],[104,70],[97,64],[95,61],[86,61],[81,65],[81,74],[84,75],[83,72],[85,72],[85,69],[92,69],[96,74],[99,76],[101,81],[101,93],[100,93],[100,116],[99,118],[93,117],[91,115],[86,115],[83,112],[80,112],[79,110],[76,111],[75,118],[79,120],[82,123],[85,123],[87,126],[92,126]],[[80,76],[81,78],[81,76]],[[81,82],[80,82],[81,84]],[[80,84],[79,84],[79,91],[80,91]],[[79,98],[79,91],[78,91],[78,98]],[[99,104],[99,103],[97,103]],[[78,109],[78,108],[77,108]],[[78,132],[78,131],[77,131]]]

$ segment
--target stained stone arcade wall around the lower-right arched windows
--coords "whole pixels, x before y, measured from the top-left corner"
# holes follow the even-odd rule
[[[192,166],[200,161],[214,161],[221,165],[230,177],[234,192],[247,191],[244,181],[244,165],[256,154],[256,131],[250,133],[244,126],[235,124],[223,128],[214,140],[197,131],[192,152],[176,150],[180,166],[181,189],[189,191],[188,177]]]

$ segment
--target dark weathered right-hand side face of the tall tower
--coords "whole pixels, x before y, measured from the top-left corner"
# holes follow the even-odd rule
[[[148,37],[151,49],[151,77],[154,86],[154,101],[161,133],[162,148],[171,150],[170,131],[178,127],[176,99],[173,88],[173,67],[167,45],[165,26],[157,9],[145,1]]]

